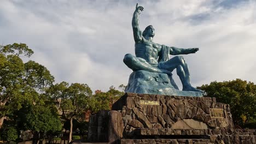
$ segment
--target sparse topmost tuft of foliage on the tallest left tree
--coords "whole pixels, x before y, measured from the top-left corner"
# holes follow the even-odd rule
[[[30,57],[33,55],[33,51],[28,48],[26,44],[17,44],[14,43],[12,45],[0,45],[0,52],[6,54],[11,54],[15,56],[25,55],[26,57]]]

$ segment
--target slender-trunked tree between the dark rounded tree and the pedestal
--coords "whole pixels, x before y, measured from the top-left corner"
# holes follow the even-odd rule
[[[69,142],[72,141],[73,118],[81,117],[91,107],[92,91],[86,84],[67,82],[56,83],[47,91],[53,99],[61,99],[62,118],[70,123]]]

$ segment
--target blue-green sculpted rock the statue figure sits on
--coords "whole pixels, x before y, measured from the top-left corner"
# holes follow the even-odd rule
[[[179,91],[170,75],[145,70],[131,73],[125,92],[202,97],[200,92]]]

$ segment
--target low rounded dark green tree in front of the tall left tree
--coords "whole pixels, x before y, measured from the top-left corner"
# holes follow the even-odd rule
[[[37,104],[23,106],[18,111],[18,125],[21,129],[30,130],[34,137],[33,142],[42,143],[45,132],[61,131],[62,125],[54,105]]]

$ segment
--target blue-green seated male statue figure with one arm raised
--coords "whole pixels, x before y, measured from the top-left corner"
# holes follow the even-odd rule
[[[153,73],[164,73],[169,77],[174,69],[181,79],[182,91],[194,91],[203,93],[200,89],[191,86],[190,74],[187,63],[182,56],[175,56],[169,59],[169,55],[187,55],[195,53],[198,48],[181,49],[173,46],[165,46],[153,42],[155,29],[148,26],[141,32],[139,29],[138,15],[143,11],[143,7],[136,5],[136,10],[132,17],[133,37],[135,40],[135,55],[130,53],[124,57],[124,63],[133,71],[144,70]]]

